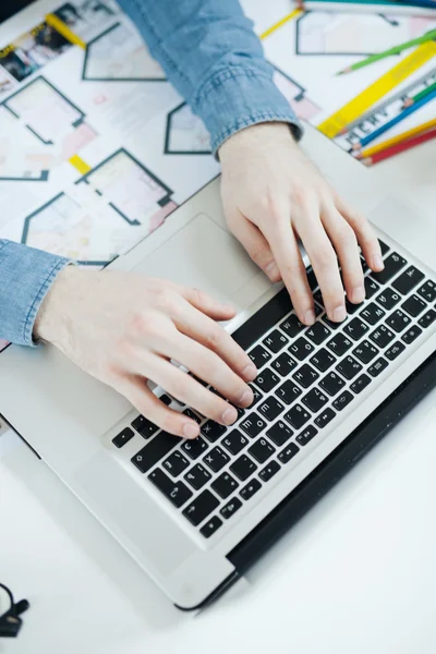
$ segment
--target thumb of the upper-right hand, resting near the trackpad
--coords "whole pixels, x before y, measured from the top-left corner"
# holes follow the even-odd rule
[[[253,262],[257,264],[269,280],[272,282],[280,281],[280,271],[274,259],[271,249],[261,230],[240,211],[232,219],[229,219],[228,222],[234,237],[245,247]]]

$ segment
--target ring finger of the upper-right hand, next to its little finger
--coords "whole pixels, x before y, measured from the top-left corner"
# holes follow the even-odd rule
[[[360,304],[365,299],[365,287],[355,233],[330,202],[323,207],[322,220],[338,255],[347,295]]]

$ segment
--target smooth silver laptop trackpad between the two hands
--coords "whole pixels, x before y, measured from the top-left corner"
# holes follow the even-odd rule
[[[201,288],[225,302],[259,276],[240,243],[205,214],[191,220],[135,270]]]

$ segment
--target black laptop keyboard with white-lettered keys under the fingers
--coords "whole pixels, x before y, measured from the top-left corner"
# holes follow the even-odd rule
[[[362,259],[366,300],[347,302],[348,318],[331,323],[312,269],[316,323],[300,323],[286,289],[233,338],[258,368],[254,401],[225,427],[168,395],[167,405],[201,425],[183,440],[138,415],[113,439],[122,448],[137,434],[145,444],[132,464],[208,538],[267,485],[289,461],[355,401],[392,361],[436,320],[436,283],[380,242],[385,269]],[[217,392],[215,389],[211,389]]]

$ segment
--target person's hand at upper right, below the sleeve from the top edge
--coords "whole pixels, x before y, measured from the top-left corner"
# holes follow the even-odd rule
[[[373,270],[384,265],[368,221],[351,209],[307,159],[284,123],[233,134],[219,149],[221,196],[228,226],[271,281],[289,290],[299,319],[315,320],[298,237],[315,271],[328,317],[347,316],[348,299],[365,298],[358,242]]]

